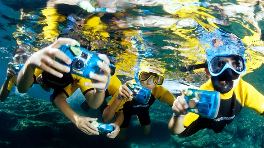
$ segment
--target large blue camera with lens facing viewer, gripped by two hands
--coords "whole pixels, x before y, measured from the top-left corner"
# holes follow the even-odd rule
[[[72,60],[72,63],[68,65],[60,59],[55,58],[55,60],[63,65],[69,66],[71,68],[71,73],[88,79],[90,79],[90,72],[99,74],[101,68],[98,67],[97,62],[103,62],[103,60],[100,59],[97,54],[93,54],[82,47],[70,46],[69,44],[62,45],[59,49],[68,55],[68,57]],[[115,70],[113,67],[115,66],[110,64],[110,69]],[[115,72],[111,72],[111,74],[114,73]]]

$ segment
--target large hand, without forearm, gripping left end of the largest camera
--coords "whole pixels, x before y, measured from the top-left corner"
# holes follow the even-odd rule
[[[26,61],[25,67],[30,66],[32,69],[39,68],[61,78],[63,76],[61,72],[70,72],[70,68],[55,61],[54,57],[61,59],[61,61],[66,64],[71,64],[71,59],[69,59],[64,52],[58,49],[61,45],[65,44],[69,44],[71,46],[80,45],[80,43],[73,39],[61,37],[50,46],[32,54]],[[60,72],[56,71],[54,68]]]

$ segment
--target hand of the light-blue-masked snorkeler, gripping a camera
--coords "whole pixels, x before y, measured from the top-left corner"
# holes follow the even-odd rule
[[[172,111],[174,112],[175,115],[186,115],[187,111],[186,109],[189,108],[188,103],[185,100],[185,94],[184,94],[184,90],[182,91],[182,95],[178,96],[177,99],[173,102],[172,105]]]

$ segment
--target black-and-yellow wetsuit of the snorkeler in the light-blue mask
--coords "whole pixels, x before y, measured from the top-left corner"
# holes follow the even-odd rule
[[[215,91],[211,79],[203,84],[200,89]],[[264,96],[252,85],[240,79],[234,90],[221,94],[220,108],[215,119],[202,118],[197,114],[188,113],[183,122],[186,129],[179,136],[187,137],[204,128],[213,129],[215,133],[220,133],[226,125],[234,120],[244,106],[252,108],[260,115],[264,114]]]

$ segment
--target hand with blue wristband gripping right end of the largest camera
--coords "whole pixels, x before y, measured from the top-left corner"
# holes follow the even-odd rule
[[[105,54],[99,54],[98,57],[103,60],[103,62],[102,61],[97,62],[97,65],[98,65],[98,67],[101,68],[101,71],[103,71],[103,74],[98,75],[98,74],[95,74],[93,72],[90,72],[89,77],[94,79],[94,80],[97,80],[97,82],[96,83],[85,82],[84,85],[89,86],[89,87],[93,87],[95,89],[104,89],[107,85],[108,79],[110,79],[109,74],[110,74],[111,70],[108,66],[110,61]]]

